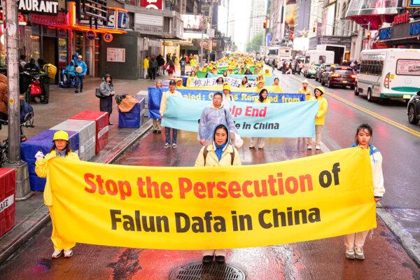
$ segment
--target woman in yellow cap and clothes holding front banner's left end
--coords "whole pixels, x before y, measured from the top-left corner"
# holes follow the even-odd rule
[[[77,153],[73,153],[69,146],[69,134],[63,130],[55,132],[54,137],[52,138],[53,144],[50,150],[50,153],[44,155],[42,151],[36,153],[35,158],[35,172],[38,177],[47,178],[45,183],[45,189],[43,191],[44,204],[48,206],[50,211],[50,218],[52,223],[52,232],[51,240],[54,245],[54,252],[52,253],[52,258],[59,258],[64,251],[64,258],[70,258],[73,255],[73,247],[76,246],[76,243],[70,240],[66,240],[64,237],[59,235],[55,225],[54,211],[52,210],[52,191],[50,186],[50,181],[47,176],[48,174],[48,161],[52,158],[59,157],[64,158],[65,160],[78,161]]]

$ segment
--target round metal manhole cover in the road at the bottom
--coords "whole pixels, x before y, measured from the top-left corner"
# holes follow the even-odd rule
[[[245,280],[241,269],[233,265],[212,262],[203,265],[202,262],[190,262],[176,268],[169,274],[169,280]]]

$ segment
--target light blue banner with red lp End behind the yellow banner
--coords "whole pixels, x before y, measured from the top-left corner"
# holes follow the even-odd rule
[[[162,126],[198,131],[198,120],[209,102],[169,97]],[[318,102],[286,104],[230,102],[241,137],[314,137]]]

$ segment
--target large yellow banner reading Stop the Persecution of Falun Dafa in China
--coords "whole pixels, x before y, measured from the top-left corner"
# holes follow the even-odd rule
[[[234,167],[49,162],[59,235],[160,249],[269,246],[376,227],[367,150]]]

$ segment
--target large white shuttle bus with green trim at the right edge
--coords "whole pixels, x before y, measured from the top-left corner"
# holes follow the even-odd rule
[[[354,94],[377,99],[404,99],[420,90],[420,50],[384,48],[363,50]]]

